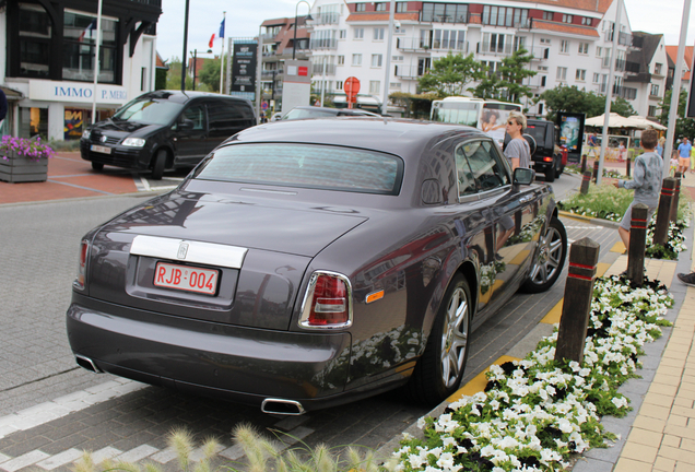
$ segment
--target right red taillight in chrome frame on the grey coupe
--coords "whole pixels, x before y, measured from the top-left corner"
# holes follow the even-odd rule
[[[352,324],[352,288],[345,275],[317,271],[311,274],[302,305],[303,328],[348,328]]]

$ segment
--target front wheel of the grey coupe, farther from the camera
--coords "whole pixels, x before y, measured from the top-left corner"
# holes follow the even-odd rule
[[[547,231],[539,239],[535,260],[521,288],[527,293],[541,293],[552,287],[563,271],[566,257],[567,232],[565,225],[553,217]]]

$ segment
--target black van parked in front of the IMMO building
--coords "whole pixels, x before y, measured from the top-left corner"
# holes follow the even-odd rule
[[[251,102],[205,92],[156,91],[126,104],[80,140],[82,158],[104,165],[152,170],[193,167],[217,144],[256,125]]]

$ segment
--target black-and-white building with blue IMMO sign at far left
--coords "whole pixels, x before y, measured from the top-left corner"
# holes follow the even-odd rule
[[[76,139],[91,122],[154,90],[161,0],[104,0],[99,74],[94,91],[97,2],[25,0],[0,7],[0,83],[13,102],[5,132]]]

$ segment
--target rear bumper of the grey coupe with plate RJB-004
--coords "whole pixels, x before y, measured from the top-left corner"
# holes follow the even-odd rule
[[[80,294],[67,314],[70,345],[104,371],[260,404],[320,404],[348,380],[349,333],[234,327],[139,310]]]

